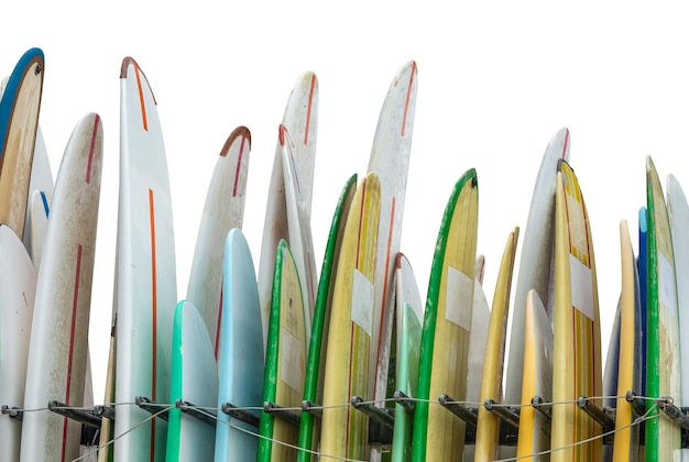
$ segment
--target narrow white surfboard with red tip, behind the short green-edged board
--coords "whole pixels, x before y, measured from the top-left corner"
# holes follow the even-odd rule
[[[289,250],[297,267],[298,280],[302,286],[304,329],[306,339],[310,339],[311,317],[316,302],[318,279],[316,275],[316,260],[311,239],[310,210],[302,189],[302,174],[295,161],[295,142],[289,136],[285,125],[280,127],[280,144],[282,146],[282,165],[285,179],[285,201],[287,207],[287,230],[289,232]],[[305,345],[308,348],[308,344]]]

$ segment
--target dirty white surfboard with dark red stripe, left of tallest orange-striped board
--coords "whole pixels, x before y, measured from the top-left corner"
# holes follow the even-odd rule
[[[24,394],[29,409],[45,408],[51,400],[84,406],[102,140],[100,117],[84,117],[57,172],[31,327]],[[76,459],[80,437],[76,420],[47,410],[26,413],[22,459]]]

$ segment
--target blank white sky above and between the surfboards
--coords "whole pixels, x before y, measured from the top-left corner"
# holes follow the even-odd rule
[[[514,226],[522,227],[521,245],[544,150],[558,129],[568,127],[570,164],[593,234],[606,350],[620,292],[619,223],[628,221],[636,250],[646,155],[664,187],[672,173],[689,191],[686,11],[669,2],[652,8],[617,1],[353,0],[344,8],[250,1],[220,9],[218,3],[17,1],[2,7],[0,73],[9,75],[32,46],[45,53],[40,120],[53,175],[77,121],[94,111],[103,122],[89,334],[96,403],[102,402],[112,308],[119,72],[125,56],[140,64],[158,102],[179,298],[186,294],[208,182],[229,133],[237,125],[252,133],[243,230],[258,268],[277,127],[298,75],[316,73],[320,103],[311,230],[320,268],[340,190],[351,174],[365,173],[387,87],[397,68],[415,59],[418,97],[402,251],[422,295],[452,186],[475,167],[478,251],[486,256],[484,288],[492,300]],[[515,275],[517,268],[518,260]]]

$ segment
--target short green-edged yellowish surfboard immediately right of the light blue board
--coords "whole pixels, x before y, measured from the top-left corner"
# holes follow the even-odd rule
[[[300,416],[306,374],[304,298],[296,262],[284,239],[277,244],[275,282],[269,324],[263,403],[272,403]],[[278,411],[276,411],[278,413]],[[258,461],[294,461],[299,427],[280,414],[261,413]]]

